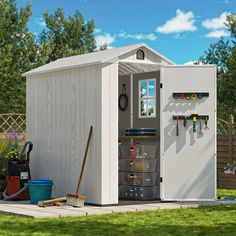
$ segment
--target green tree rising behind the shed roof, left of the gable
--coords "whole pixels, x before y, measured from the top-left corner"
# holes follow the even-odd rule
[[[44,20],[46,30],[41,33],[39,40],[42,64],[58,58],[93,52],[96,48],[94,20],[85,22],[79,11],[66,18],[63,10],[58,8],[53,15],[45,12]]]

